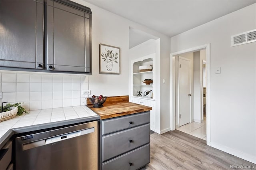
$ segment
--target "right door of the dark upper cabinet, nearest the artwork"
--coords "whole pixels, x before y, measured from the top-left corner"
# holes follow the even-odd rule
[[[47,1],[48,70],[90,72],[90,19],[90,13]]]

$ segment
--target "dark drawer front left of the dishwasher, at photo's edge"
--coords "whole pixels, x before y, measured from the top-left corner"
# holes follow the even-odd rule
[[[12,160],[12,142],[7,142],[3,148],[1,148],[1,152],[3,152],[4,156],[0,160],[0,169],[7,169],[8,165]]]

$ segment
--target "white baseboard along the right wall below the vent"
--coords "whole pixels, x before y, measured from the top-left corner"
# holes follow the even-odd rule
[[[210,146],[212,146],[213,148],[222,150],[224,152],[227,152],[229,154],[232,154],[234,156],[237,156],[238,158],[242,158],[244,160],[247,160],[249,162],[252,162],[252,163],[256,164],[256,156],[245,154],[245,153],[243,153],[241,151],[234,150],[232,148],[229,148],[227,146],[223,146],[223,145],[217,144],[217,143],[212,142],[212,141],[211,141],[211,145]]]

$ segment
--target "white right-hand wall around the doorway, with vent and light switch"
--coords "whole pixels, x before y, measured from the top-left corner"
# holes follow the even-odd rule
[[[230,37],[256,29],[255,9],[252,4],[171,38],[172,52],[210,43],[210,145],[253,163],[256,42],[231,47]]]

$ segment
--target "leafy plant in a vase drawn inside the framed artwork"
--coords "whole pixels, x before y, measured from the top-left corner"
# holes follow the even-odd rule
[[[113,50],[108,50],[105,48],[105,51],[101,53],[102,59],[104,62],[106,61],[106,67],[108,71],[111,71],[113,68],[113,62],[118,63],[116,60],[118,59],[118,52],[113,53]]]

